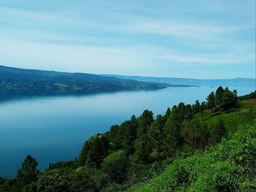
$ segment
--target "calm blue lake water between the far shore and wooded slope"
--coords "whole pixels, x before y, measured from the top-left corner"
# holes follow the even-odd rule
[[[235,88],[231,88],[231,90]],[[180,101],[205,101],[216,88],[166,88],[157,91],[97,93],[85,96],[10,97],[0,101],[0,175],[15,177],[26,155],[48,164],[78,157],[86,139],[143,110],[164,114]],[[255,88],[236,88],[238,95]]]

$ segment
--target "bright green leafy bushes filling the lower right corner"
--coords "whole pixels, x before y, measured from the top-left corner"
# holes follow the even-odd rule
[[[205,153],[178,158],[158,177],[129,191],[256,191],[256,123],[240,126]]]

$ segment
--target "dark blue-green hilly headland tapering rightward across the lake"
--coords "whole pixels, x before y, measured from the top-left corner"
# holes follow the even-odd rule
[[[139,82],[96,74],[49,72],[0,66],[0,90],[118,91],[167,88],[166,83]],[[177,85],[178,86],[178,85]]]

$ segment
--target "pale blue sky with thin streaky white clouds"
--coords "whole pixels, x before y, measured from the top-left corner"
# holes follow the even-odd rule
[[[255,0],[0,0],[0,65],[255,77]]]

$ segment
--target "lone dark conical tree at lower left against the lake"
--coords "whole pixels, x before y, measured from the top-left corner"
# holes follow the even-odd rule
[[[27,155],[17,172],[17,181],[20,185],[29,185],[37,178],[37,160]]]

